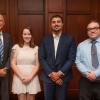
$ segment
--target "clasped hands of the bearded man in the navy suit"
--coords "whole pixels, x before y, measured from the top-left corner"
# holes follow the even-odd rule
[[[58,72],[52,72],[49,74],[49,77],[53,82],[55,82],[57,85],[62,85],[63,80],[61,79],[63,77],[63,73],[61,71]]]

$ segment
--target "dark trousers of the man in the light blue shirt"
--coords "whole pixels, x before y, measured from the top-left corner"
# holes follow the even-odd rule
[[[82,77],[79,98],[80,100],[100,100],[100,80],[91,82]]]

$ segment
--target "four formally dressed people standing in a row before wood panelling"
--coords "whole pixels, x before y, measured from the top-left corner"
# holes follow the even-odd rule
[[[18,100],[35,100],[43,81],[45,100],[67,100],[67,89],[76,63],[82,74],[80,100],[100,100],[100,24],[92,20],[87,25],[88,39],[76,46],[74,37],[63,33],[63,19],[54,15],[50,19],[51,33],[40,45],[34,43],[30,27],[22,30],[20,40],[12,46],[12,39],[3,32],[5,20],[0,14],[0,100],[9,100],[9,68],[13,74],[12,93]],[[9,67],[10,66],[10,67]],[[55,98],[54,98],[55,97]]]

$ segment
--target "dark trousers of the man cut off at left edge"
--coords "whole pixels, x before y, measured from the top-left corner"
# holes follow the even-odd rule
[[[0,94],[0,100],[9,100],[8,75],[4,78],[0,77]]]

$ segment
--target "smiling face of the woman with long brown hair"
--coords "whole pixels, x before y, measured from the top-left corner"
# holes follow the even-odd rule
[[[32,38],[30,30],[29,29],[24,29],[22,37],[23,37],[24,43],[26,43],[26,44],[30,43],[31,38]]]

